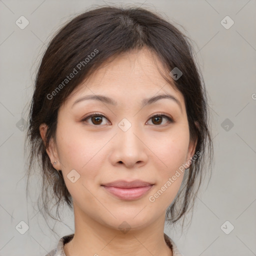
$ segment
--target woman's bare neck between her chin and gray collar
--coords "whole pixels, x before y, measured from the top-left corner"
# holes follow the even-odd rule
[[[75,232],[72,240],[64,245],[66,256],[172,256],[163,236],[165,212],[145,227],[126,230],[114,229],[79,214],[75,205],[74,213]]]

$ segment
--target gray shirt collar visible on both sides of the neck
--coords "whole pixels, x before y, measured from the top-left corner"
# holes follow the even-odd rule
[[[66,256],[64,253],[64,244],[69,242],[72,238],[73,238],[73,233],[72,234],[68,234],[65,236],[62,236],[57,243],[57,247],[55,249],[52,249],[48,254],[46,254],[45,256]],[[164,233],[164,240],[166,242],[166,244],[170,247],[170,249],[172,250],[172,255],[173,256],[183,256],[177,249],[177,246],[175,245],[175,243],[170,239],[170,237]]]

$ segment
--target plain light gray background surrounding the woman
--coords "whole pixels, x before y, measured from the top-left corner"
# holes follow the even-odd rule
[[[256,0],[135,3],[185,28],[194,41],[210,97],[215,151],[212,177],[198,194],[191,225],[183,233],[180,228],[165,226],[165,232],[187,256],[256,255]],[[21,117],[27,118],[27,112],[22,115],[22,111],[31,98],[36,67],[51,35],[67,19],[93,4],[105,2],[0,0],[1,256],[45,255],[59,239],[38,214],[36,196],[26,200],[26,125],[20,125]],[[15,24],[21,15],[29,21],[24,29]],[[221,24],[226,15],[234,21],[228,29]],[[224,22],[230,25],[230,20]],[[32,183],[35,191],[37,180],[35,177]],[[227,220],[230,223],[221,229]],[[16,228],[20,221],[29,226],[24,234]],[[234,229],[224,233],[230,231],[231,224]],[[50,219],[49,225],[54,225]],[[72,212],[64,210],[63,223],[57,222],[55,228],[61,236],[72,233]]]

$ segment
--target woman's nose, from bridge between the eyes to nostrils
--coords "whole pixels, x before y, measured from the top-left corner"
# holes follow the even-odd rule
[[[124,164],[127,168],[144,165],[148,158],[148,148],[143,133],[134,124],[126,131],[117,126],[116,133],[111,143],[112,165]]]

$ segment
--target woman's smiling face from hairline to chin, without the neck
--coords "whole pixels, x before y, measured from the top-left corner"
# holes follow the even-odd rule
[[[47,153],[63,173],[75,214],[115,229],[123,221],[138,229],[165,215],[176,196],[184,172],[175,173],[192,157],[195,145],[189,143],[183,96],[157,66],[162,68],[145,48],[119,55],[61,105],[56,141]],[[82,99],[98,94],[114,104]],[[171,96],[146,103],[160,94]],[[43,137],[44,125],[40,132]],[[137,179],[150,185],[103,186]]]

